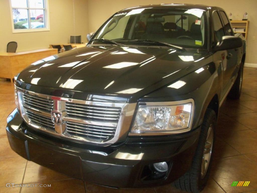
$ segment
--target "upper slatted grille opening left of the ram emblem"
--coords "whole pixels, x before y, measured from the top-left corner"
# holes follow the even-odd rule
[[[42,98],[36,95],[31,95],[27,93],[23,93],[23,100],[24,103],[29,106],[36,109],[49,111],[53,110],[53,100],[52,99],[46,99]]]

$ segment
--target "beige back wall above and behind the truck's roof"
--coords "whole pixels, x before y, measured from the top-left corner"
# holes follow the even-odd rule
[[[222,7],[227,13],[232,13],[233,20],[242,20],[244,12],[248,13],[249,31],[247,34],[247,63],[257,63],[257,0],[88,0],[88,29],[95,32],[111,15],[124,8],[138,5],[160,4],[160,3],[192,3],[207,4]]]

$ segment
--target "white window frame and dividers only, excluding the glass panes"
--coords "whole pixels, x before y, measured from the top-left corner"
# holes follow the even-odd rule
[[[26,1],[27,1],[27,7],[13,7],[12,6],[12,1],[9,0],[10,14],[11,14],[11,23],[12,23],[12,32],[13,33],[26,33],[26,32],[50,31],[48,0],[43,0],[43,2],[44,2],[44,7],[43,8],[30,8],[29,7],[29,0],[26,0]],[[44,10],[45,28],[14,29],[13,9],[26,9],[26,10],[28,10],[28,17],[29,17],[28,18],[29,19],[28,23],[29,23],[29,26],[31,25],[31,22],[30,22],[30,11],[29,10]]]

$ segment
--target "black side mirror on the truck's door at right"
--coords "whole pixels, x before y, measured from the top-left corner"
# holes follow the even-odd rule
[[[217,45],[214,50],[229,50],[234,48],[240,48],[243,46],[243,40],[239,37],[234,36],[223,36],[219,45]]]

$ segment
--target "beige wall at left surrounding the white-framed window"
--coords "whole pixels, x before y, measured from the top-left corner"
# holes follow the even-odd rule
[[[9,0],[0,0],[0,52],[6,52],[9,41],[18,43],[17,51],[48,48],[49,44],[68,43],[70,36],[73,35],[81,35],[82,42],[86,42],[87,6],[87,0],[49,0],[50,31],[12,33]]]

